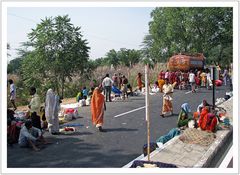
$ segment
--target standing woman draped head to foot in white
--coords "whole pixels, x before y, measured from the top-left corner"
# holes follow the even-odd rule
[[[48,129],[51,134],[59,134],[58,112],[60,110],[60,98],[52,89],[48,89],[45,102],[45,116]]]

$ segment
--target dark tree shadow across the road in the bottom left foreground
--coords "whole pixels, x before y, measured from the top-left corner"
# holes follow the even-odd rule
[[[20,148],[17,144],[7,149],[8,168],[108,168],[121,167],[136,154],[116,149],[103,152],[103,145],[87,143],[68,137],[55,138],[39,152],[31,148]]]

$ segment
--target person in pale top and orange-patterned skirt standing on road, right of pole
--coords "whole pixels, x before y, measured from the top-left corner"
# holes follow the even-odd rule
[[[169,84],[169,80],[165,79],[165,84],[163,85],[163,107],[162,114],[160,115],[163,118],[167,112],[170,112],[171,115],[173,114],[172,94],[173,87],[171,84]]]

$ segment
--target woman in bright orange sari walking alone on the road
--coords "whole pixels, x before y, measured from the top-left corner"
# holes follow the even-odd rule
[[[92,113],[92,123],[98,128],[100,132],[103,132],[103,117],[104,110],[106,110],[106,105],[104,101],[104,95],[101,90],[96,87],[93,91],[93,96],[91,99],[91,113]]]

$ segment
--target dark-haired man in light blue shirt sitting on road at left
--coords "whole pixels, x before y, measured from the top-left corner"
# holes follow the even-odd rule
[[[28,147],[31,146],[34,151],[39,151],[40,149],[36,146],[37,142],[46,144],[46,140],[44,139],[42,132],[40,129],[32,126],[31,120],[27,120],[25,125],[21,128],[18,144],[20,147]]]

